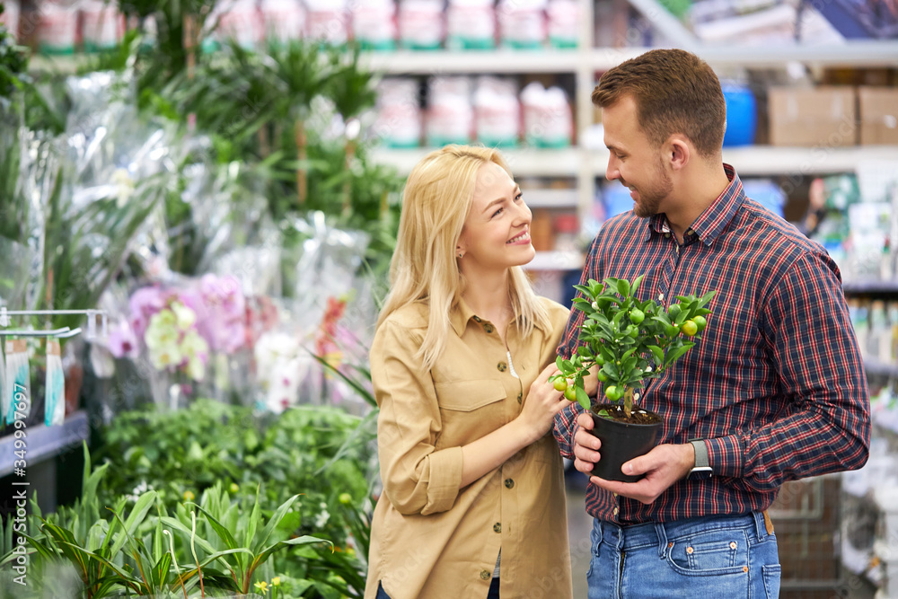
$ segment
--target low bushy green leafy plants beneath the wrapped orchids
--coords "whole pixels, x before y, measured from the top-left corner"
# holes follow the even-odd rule
[[[110,471],[101,493],[110,500],[154,489],[174,509],[185,493],[199,497],[218,482],[237,498],[254,497],[261,484],[262,507],[302,494],[297,530],[344,545],[339,497],[349,494],[360,507],[368,497],[375,468],[370,422],[330,407],[259,417],[217,401],[125,412],[103,432],[97,463],[109,463]]]

